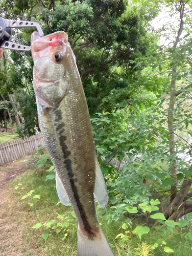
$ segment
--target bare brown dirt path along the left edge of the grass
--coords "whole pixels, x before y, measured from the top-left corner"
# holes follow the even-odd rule
[[[22,232],[15,221],[16,207],[13,196],[9,193],[10,188],[5,185],[28,169],[25,158],[0,166],[0,256],[22,256],[22,253],[15,249],[23,243]]]

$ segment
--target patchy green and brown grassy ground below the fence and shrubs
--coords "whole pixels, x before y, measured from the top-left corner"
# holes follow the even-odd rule
[[[55,181],[45,181],[45,172],[48,168],[36,170],[26,167],[28,158],[0,167],[0,182],[5,175],[13,169],[22,169],[26,172],[19,174],[9,181],[1,190],[0,199],[0,255],[1,256],[76,256],[77,255],[77,223],[71,215],[71,207],[58,204],[59,199],[56,193]],[[29,164],[28,164],[29,165]],[[34,165],[30,165],[34,166]],[[9,176],[9,175],[8,175]],[[31,196],[21,200],[30,190],[35,190]],[[40,199],[33,198],[39,195]],[[33,204],[30,206],[30,204]],[[105,216],[102,216],[102,209],[98,209],[99,223],[112,248],[115,256],[192,256],[192,241],[189,240],[182,229],[174,229],[174,233],[163,234],[162,231],[151,232],[142,236],[140,242],[136,234],[124,244],[119,244],[119,238],[115,239],[118,233],[124,232],[121,229],[121,222],[107,224]],[[62,215],[64,216],[63,219]],[[65,219],[66,218],[66,219]],[[69,226],[53,229],[55,223],[47,227],[47,222],[55,220],[55,223],[69,222]],[[38,229],[32,228],[35,224],[42,223]],[[138,220],[133,223],[138,225]],[[57,230],[58,229],[58,230]],[[60,230],[60,231],[59,231]],[[43,234],[51,234],[44,240]],[[157,239],[162,238],[166,246],[172,248],[174,253],[166,253],[163,246],[158,246],[155,250],[151,245]],[[91,255],[90,255],[91,256]]]

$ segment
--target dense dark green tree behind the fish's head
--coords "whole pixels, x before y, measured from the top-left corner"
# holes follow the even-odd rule
[[[147,32],[148,23],[158,13],[158,2],[154,2],[153,8],[148,10],[144,5],[128,5],[123,0],[27,1],[25,4],[15,0],[14,7],[9,1],[6,5],[2,2],[0,7],[6,18],[14,19],[18,16],[23,20],[41,23],[45,34],[58,30],[67,32],[77,58],[91,115],[101,111],[99,105],[103,97],[109,95],[113,89],[129,87],[131,91],[138,90],[130,84],[136,79],[136,74],[139,77],[140,68],[132,70],[133,65],[129,60],[145,55],[148,49],[149,42],[153,39]],[[14,37],[17,42],[30,45],[33,29],[22,31],[23,33],[14,31]],[[31,54],[15,51],[10,56],[12,61],[8,74],[9,90],[19,92],[24,89],[28,94],[32,87]],[[129,98],[127,93],[125,100]],[[117,106],[118,100],[115,103]],[[17,108],[17,104],[15,106]],[[110,108],[108,105],[108,110]],[[36,120],[36,113],[33,113],[33,120]],[[30,129],[33,127],[34,124]],[[29,125],[23,123],[22,130],[29,135]]]

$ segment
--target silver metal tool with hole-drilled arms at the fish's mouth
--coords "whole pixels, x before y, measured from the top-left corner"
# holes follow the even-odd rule
[[[0,17],[0,47],[17,51],[31,51],[31,46],[23,46],[11,42],[13,28],[36,28],[40,36],[44,36],[37,22],[26,22],[23,20],[11,20]]]

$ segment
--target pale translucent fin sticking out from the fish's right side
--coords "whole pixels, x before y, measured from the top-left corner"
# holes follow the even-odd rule
[[[96,157],[95,157],[95,170],[96,170],[96,179],[95,179],[95,186],[94,186],[94,196],[97,199],[99,205],[102,208],[104,208],[108,203],[109,197],[107,193],[105,180]]]

